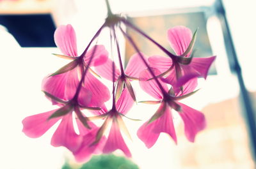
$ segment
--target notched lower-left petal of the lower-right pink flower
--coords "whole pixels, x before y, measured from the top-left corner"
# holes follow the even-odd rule
[[[159,117],[155,121],[149,124],[148,121],[145,122],[140,127],[140,129],[138,129],[137,135],[149,149],[156,143],[160,133],[167,133],[168,135],[172,136],[174,142],[177,143],[175,128],[173,126],[172,114],[170,112],[170,108],[168,107],[165,108],[164,114],[161,115],[161,117]]]

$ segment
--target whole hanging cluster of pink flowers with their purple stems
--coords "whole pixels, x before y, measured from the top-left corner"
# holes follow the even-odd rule
[[[122,26],[131,27],[141,36],[152,41],[168,57],[144,55]],[[111,48],[116,48],[119,68],[103,45],[96,44],[91,47],[92,43],[97,41],[102,29],[109,29]],[[122,32],[136,50],[136,54],[131,56],[125,69],[116,31]],[[141,89],[156,98],[155,101],[141,101],[141,103],[159,104],[159,108],[138,129],[138,138],[148,148],[156,143],[160,133],[167,133],[177,143],[173,126],[173,109],[179,113],[184,122],[186,137],[190,142],[194,142],[196,133],[205,128],[204,114],[180,103],[179,100],[196,92],[197,78],[207,77],[215,57],[191,56],[196,32],[192,34],[187,27],[173,27],[167,34],[175,54],[159,45],[124,17],[109,13],[106,22],[93,36],[84,52],[78,55],[73,27],[71,25],[58,27],[54,33],[54,40],[62,54],[55,55],[71,61],[44,78],[42,91],[52,104],[59,108],[26,117],[22,121],[23,132],[31,138],[37,138],[44,135],[56,122],[61,121],[52,136],[51,145],[67,147],[77,161],[86,161],[92,154],[110,153],[116,149],[123,151],[125,156],[131,157],[120,129],[129,136],[122,118],[126,117],[136,101],[132,81],[139,80]],[[99,76],[113,82],[111,92],[100,82]],[[112,107],[106,108],[105,103],[111,98]],[[94,119],[102,120],[102,125],[93,123]],[[74,125],[77,125],[79,133],[76,133]],[[109,133],[107,133],[108,127]]]

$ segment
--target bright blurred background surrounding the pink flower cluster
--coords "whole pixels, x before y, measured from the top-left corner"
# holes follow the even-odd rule
[[[199,79],[200,91],[184,103],[205,114],[207,128],[198,133],[195,143],[190,143],[184,136],[182,121],[175,116],[178,145],[161,134],[156,145],[147,149],[136,131],[157,107],[138,104],[129,117],[143,121],[125,121],[133,138],[133,142],[125,140],[132,158],[122,158],[122,153],[116,151],[114,155],[94,156],[85,165],[76,163],[63,147],[50,145],[58,124],[40,138],[28,138],[22,133],[22,119],[53,109],[41,91],[42,79],[68,62],[52,55],[60,54],[53,39],[56,27],[74,26],[81,53],[104,22],[106,5],[103,0],[0,0],[0,168],[255,168],[255,1],[109,3],[114,13],[128,15],[131,22],[171,51],[166,35],[170,27],[183,25],[192,31],[199,27],[195,57],[217,57],[207,80]],[[148,56],[164,55],[139,34],[130,29],[127,32]],[[134,50],[124,38],[120,41],[127,62]],[[109,48],[108,36],[102,34],[99,43]],[[132,83],[138,100],[148,100],[138,83]]]

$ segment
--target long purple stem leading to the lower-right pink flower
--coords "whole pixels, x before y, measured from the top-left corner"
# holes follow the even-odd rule
[[[131,36],[129,36],[129,34],[125,33],[124,30],[122,29],[122,27],[119,27],[120,30],[122,31],[122,33],[124,34],[124,36],[130,41],[132,47],[134,47],[134,49],[136,50],[136,52],[138,52],[138,54],[140,55],[142,61],[144,62],[145,66],[147,66],[148,71],[150,72],[150,74],[152,75],[152,77],[154,78],[154,80],[156,81],[157,85],[159,86],[159,88],[161,89],[163,96],[166,96],[166,91],[164,91],[163,86],[160,84],[159,80],[157,79],[156,75],[154,74],[154,72],[152,71],[152,69],[150,68],[150,66],[147,64],[147,61],[144,59],[143,55],[141,55],[139,48],[137,47],[137,45],[135,44],[135,42],[132,40]]]

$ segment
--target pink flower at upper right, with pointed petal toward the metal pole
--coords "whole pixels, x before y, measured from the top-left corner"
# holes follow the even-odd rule
[[[191,48],[193,47],[193,41],[195,41],[195,36],[192,38],[191,30],[188,27],[176,26],[168,30],[168,40],[171,47],[178,55],[177,59],[182,59],[179,57],[184,55],[189,44],[191,43]],[[191,50],[187,51],[187,54],[183,57],[190,57]],[[182,61],[173,62],[170,57],[163,57],[159,55],[154,55],[148,58],[150,66],[157,68],[162,73],[170,71],[168,77],[164,78],[164,82],[171,84],[176,92],[180,91],[180,86],[186,84],[189,80],[195,77],[207,77],[209,68],[214,61],[215,56],[212,57],[193,57],[189,64],[181,64]],[[172,67],[173,66],[173,67]],[[170,68],[172,67],[172,70]],[[178,76],[180,76],[178,78]],[[197,83],[197,80],[193,80],[193,83]]]

